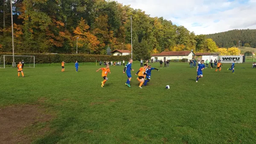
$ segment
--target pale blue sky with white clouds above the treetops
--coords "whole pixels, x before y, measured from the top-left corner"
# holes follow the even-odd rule
[[[256,29],[256,0],[117,0],[196,35]]]

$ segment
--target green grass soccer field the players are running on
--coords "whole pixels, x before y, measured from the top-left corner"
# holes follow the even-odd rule
[[[18,133],[32,136],[34,144],[217,144],[256,142],[256,69],[251,63],[237,64],[235,74],[223,64],[221,72],[204,69],[195,82],[196,68],[188,63],[171,63],[152,71],[151,81],[138,88],[132,68],[131,88],[125,86],[123,66],[111,66],[109,81],[101,87],[101,66],[80,63],[79,72],[66,64],[17,69],[0,69],[0,109],[13,105],[39,105],[54,115]],[[245,69],[242,69],[244,67]],[[171,89],[165,89],[170,85]]]

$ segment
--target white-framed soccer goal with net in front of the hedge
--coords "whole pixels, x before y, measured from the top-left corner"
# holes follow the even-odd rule
[[[13,57],[15,59],[14,63]],[[0,68],[16,67],[19,61],[24,62],[24,67],[35,67],[35,56],[33,55],[1,55]]]

